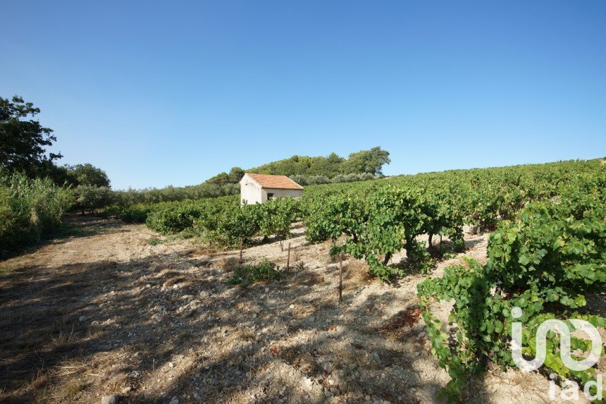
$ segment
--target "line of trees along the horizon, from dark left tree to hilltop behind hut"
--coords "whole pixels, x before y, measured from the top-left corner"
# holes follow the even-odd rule
[[[42,126],[35,116],[40,110],[31,102],[15,96],[0,97],[0,170],[5,176],[21,173],[26,178],[49,178],[55,185],[73,190],[72,209],[92,213],[110,205],[129,207],[183,200],[237,195],[238,182],[245,171],[234,167],[199,185],[187,187],[112,190],[105,171],[92,164],[58,165],[61,153],[49,153],[46,147],[56,142],[53,130]],[[254,173],[290,176],[302,185],[370,180],[380,176],[389,164],[389,152],[381,147],[361,150],[345,159],[332,153],[328,157],[293,156],[289,159],[250,169]]]

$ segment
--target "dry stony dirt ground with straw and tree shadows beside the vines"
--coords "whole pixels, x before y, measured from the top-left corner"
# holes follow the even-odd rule
[[[302,228],[290,271],[242,289],[227,283],[237,252],[74,223],[95,231],[0,262],[2,402],[431,403],[449,380],[416,312],[419,275],[391,286],[345,262],[339,305],[338,263]],[[486,236],[466,242],[466,255],[485,259]],[[247,262],[262,257],[285,267],[278,243],[245,250]],[[544,403],[547,393],[538,374],[489,372],[469,400]]]

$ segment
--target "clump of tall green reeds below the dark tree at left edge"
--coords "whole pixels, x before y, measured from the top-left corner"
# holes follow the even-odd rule
[[[0,255],[50,235],[73,204],[71,190],[24,174],[0,176]]]

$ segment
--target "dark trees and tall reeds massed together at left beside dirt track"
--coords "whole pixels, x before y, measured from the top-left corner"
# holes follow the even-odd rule
[[[63,156],[46,151],[57,139],[35,119],[39,112],[21,97],[0,97],[2,250],[56,230],[61,214],[72,207],[84,212],[115,200],[105,171],[92,164],[57,164]],[[44,195],[49,197],[47,204],[41,202]],[[56,195],[62,195],[61,203]]]

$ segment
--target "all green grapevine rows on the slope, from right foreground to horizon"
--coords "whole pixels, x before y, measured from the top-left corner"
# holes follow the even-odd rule
[[[227,248],[259,243],[255,237],[261,235],[285,240],[291,224],[302,220],[309,243],[332,240],[331,255],[364,259],[373,276],[387,281],[409,271],[426,274],[419,285],[422,315],[431,352],[452,377],[443,393],[455,399],[489,362],[514,366],[508,349],[513,307],[524,310],[524,353],[531,357],[536,355],[531,336],[545,319],[604,326],[585,305],[606,281],[605,186],[602,161],[564,161],[309,186],[302,200],[242,208],[237,196],[229,196],[108,210],[125,221],[145,221],[163,235],[197,235]],[[468,259],[432,277],[440,257],[464,250],[465,225],[476,233],[493,232],[488,263]],[[418,240],[421,235],[428,245]],[[404,262],[391,263],[400,251]],[[432,304],[440,300],[454,302],[455,329],[433,316]],[[549,334],[548,371],[592,380],[594,369],[563,366],[558,338]],[[580,338],[572,343],[574,349],[588,348]]]

